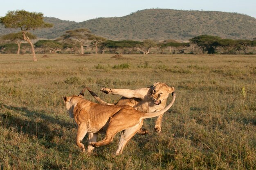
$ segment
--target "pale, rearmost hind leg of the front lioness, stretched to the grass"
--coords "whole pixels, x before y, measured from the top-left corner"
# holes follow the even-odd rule
[[[116,155],[123,153],[124,147],[126,146],[128,141],[130,141],[130,139],[132,139],[132,137],[138,132],[138,130],[141,128],[142,125],[143,125],[143,121],[141,121],[141,123],[139,123],[135,126],[132,126],[131,128],[128,128],[128,129],[124,130],[124,132],[122,132],[120,141],[118,144],[118,148],[115,153]]]

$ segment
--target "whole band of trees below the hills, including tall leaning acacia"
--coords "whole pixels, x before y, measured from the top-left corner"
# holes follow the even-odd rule
[[[256,52],[256,38],[253,40],[222,39],[218,36],[201,35],[191,38],[188,42],[176,40],[107,40],[94,35],[89,29],[80,28],[65,31],[55,40],[38,40],[29,31],[52,27],[43,22],[42,13],[30,13],[24,10],[9,11],[0,18],[7,28],[20,28],[17,33],[6,34],[0,38],[0,53],[32,53],[36,61],[36,53],[70,53],[70,54],[244,54]],[[22,43],[26,41],[27,43]],[[27,45],[29,44],[29,45]],[[249,51],[250,50],[250,51]]]

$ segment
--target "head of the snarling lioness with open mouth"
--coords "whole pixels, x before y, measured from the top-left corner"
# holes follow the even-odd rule
[[[169,94],[174,92],[174,87],[169,87],[165,83],[156,82],[152,88],[152,100],[154,101],[155,105],[160,105],[161,101],[164,101],[168,98]]]

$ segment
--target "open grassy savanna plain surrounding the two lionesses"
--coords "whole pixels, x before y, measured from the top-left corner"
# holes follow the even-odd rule
[[[255,55],[47,56],[33,62],[28,54],[0,55],[1,170],[256,169]],[[176,89],[162,132],[153,129],[156,118],[146,119],[149,134],[136,134],[120,156],[112,157],[120,134],[92,155],[79,150],[62,96],[89,86],[115,103],[121,96],[101,87],[137,89],[157,81]],[[85,98],[95,101],[89,92]]]

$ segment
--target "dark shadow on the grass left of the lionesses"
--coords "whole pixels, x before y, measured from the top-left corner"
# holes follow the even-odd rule
[[[44,138],[43,141],[45,142],[42,144],[45,145],[46,148],[56,146],[56,144],[52,142],[54,137],[63,136],[62,130],[55,130],[54,128],[50,127],[51,125],[58,124],[61,126],[61,129],[63,127],[68,129],[76,128],[75,124],[48,116],[43,110],[31,111],[26,107],[9,106],[0,103],[0,108],[1,107],[7,109],[7,112],[0,112],[0,118],[2,118],[2,123],[0,123],[0,126],[7,129],[12,128],[15,132],[27,134],[31,138]],[[21,112],[21,116],[14,116],[11,114],[10,110]],[[22,118],[22,115],[27,116],[27,118],[30,120]]]

